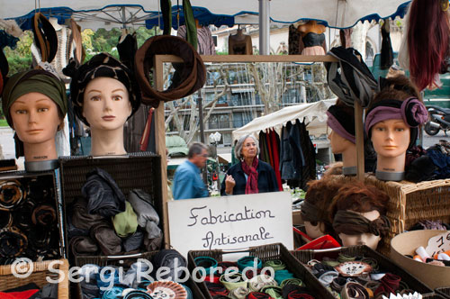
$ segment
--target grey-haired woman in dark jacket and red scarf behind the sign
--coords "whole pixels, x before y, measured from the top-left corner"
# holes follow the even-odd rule
[[[251,135],[241,137],[234,149],[239,163],[229,168],[220,188],[220,195],[249,195],[279,191],[275,171],[257,159],[259,143]]]

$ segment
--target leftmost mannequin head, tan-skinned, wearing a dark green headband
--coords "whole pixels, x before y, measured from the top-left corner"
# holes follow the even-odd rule
[[[2,107],[6,121],[23,142],[25,162],[58,159],[55,136],[67,113],[61,80],[41,69],[17,73],[4,85]]]

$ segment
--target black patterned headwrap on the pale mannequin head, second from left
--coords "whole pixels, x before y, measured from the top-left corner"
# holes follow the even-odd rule
[[[95,55],[79,68],[76,68],[76,61],[71,59],[67,67],[63,69],[63,73],[68,77],[72,77],[70,97],[74,104],[74,111],[76,116],[86,125],[89,125],[89,122],[83,116],[85,87],[97,77],[111,77],[120,81],[127,88],[132,108],[129,118],[139,109],[140,90],[134,74],[108,53]]]

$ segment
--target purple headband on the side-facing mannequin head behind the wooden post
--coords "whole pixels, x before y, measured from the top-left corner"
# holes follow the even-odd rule
[[[339,136],[356,143],[355,137],[355,117],[347,115],[337,105],[332,105],[327,111],[327,125],[331,130],[336,131]]]

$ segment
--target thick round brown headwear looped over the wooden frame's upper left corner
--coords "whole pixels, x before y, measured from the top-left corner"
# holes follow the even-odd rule
[[[154,68],[155,55],[175,55],[183,63],[174,63],[175,74],[171,85],[164,91],[157,91],[150,84],[148,73]],[[136,52],[136,77],[142,89],[142,101],[157,107],[160,101],[173,101],[192,95],[202,88],[206,81],[206,68],[193,46],[177,36],[158,35],[149,38]]]

